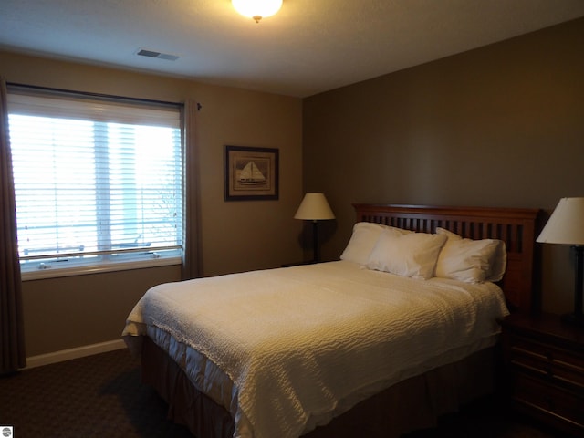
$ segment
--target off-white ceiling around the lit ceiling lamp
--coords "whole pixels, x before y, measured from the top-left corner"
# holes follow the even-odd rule
[[[284,0],[256,24],[231,0],[2,0],[0,48],[308,97],[580,16],[583,0]]]

